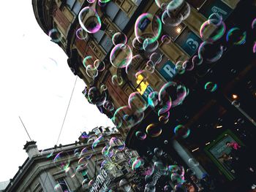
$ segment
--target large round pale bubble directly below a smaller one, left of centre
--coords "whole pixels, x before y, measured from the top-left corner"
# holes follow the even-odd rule
[[[132,61],[132,50],[129,45],[118,44],[110,53],[110,63],[116,68],[125,68]]]

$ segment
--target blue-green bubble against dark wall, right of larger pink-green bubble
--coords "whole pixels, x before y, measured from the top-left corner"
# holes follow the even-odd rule
[[[243,45],[246,42],[246,31],[243,32],[238,27],[231,28],[227,32],[226,40],[234,45]]]

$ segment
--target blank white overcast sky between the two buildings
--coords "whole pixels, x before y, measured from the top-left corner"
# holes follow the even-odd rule
[[[0,181],[9,180],[26,160],[29,138],[23,119],[39,150],[56,144],[75,75],[67,56],[42,31],[31,0],[1,2],[0,30]],[[56,62],[55,62],[56,61]],[[86,101],[85,84],[78,78],[61,134],[61,144],[78,140],[80,131],[113,126],[107,116]]]

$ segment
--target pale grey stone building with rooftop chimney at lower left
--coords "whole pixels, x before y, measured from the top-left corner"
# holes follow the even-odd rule
[[[120,138],[117,131],[99,127],[84,132],[79,142],[71,145],[39,151],[36,142],[27,142],[24,150],[29,158],[9,184],[3,183],[3,190],[135,191],[129,160],[138,153],[124,150]],[[112,154],[103,151],[106,147],[111,147]]]

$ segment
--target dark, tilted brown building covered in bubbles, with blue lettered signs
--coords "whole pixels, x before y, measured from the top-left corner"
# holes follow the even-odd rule
[[[224,159],[235,158],[227,142],[255,153],[256,3],[175,2],[32,4],[39,26],[86,83],[86,99],[112,118],[127,147],[148,156],[162,146],[173,161],[195,169],[197,177],[207,173],[216,178],[219,191],[243,191],[246,182],[237,181],[246,172]],[[181,135],[175,128],[181,128]],[[243,162],[246,170],[255,166]]]

